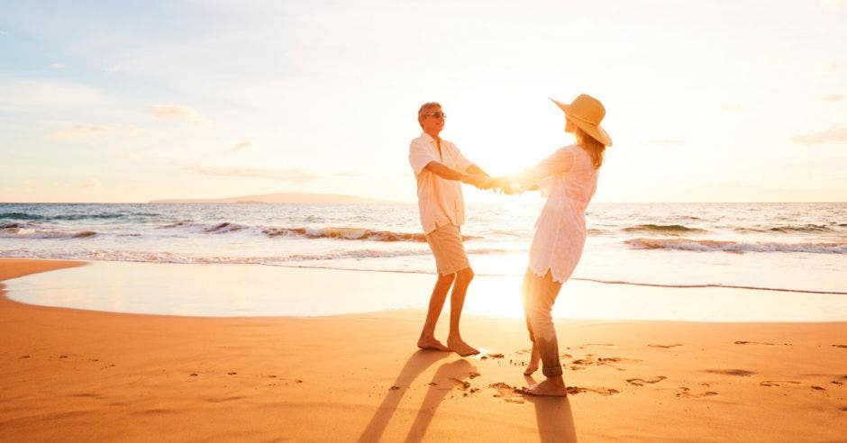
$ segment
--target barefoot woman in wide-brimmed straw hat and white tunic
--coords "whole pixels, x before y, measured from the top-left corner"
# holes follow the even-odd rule
[[[533,341],[533,354],[524,374],[532,375],[541,360],[547,379],[524,392],[563,397],[568,392],[561,376],[551,311],[561,285],[582,255],[586,206],[597,189],[603,154],[612,140],[600,127],[606,109],[596,98],[579,95],[571,104],[553,103],[564,111],[565,132],[573,132],[576,143],[556,150],[536,167],[515,176],[494,178],[489,185],[508,191],[510,186],[530,188],[544,180],[543,186],[549,186],[547,203],[535,224],[523,288],[526,327]]]

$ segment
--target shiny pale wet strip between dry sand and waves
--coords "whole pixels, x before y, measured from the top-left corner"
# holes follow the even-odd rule
[[[273,318],[423,310],[433,280],[431,275],[404,272],[92,261],[12,280],[6,286],[8,298],[41,306],[180,317]],[[520,285],[518,276],[477,276],[463,313],[522,319]],[[808,323],[847,321],[843,312],[847,312],[847,298],[837,294],[607,285],[572,279],[562,289],[553,317],[560,321]]]

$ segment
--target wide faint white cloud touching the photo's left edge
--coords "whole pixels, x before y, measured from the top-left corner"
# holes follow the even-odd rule
[[[105,103],[99,90],[55,80],[12,80],[0,82],[0,111],[56,111]]]

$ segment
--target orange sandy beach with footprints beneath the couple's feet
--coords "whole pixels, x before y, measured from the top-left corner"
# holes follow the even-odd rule
[[[0,280],[76,266],[0,259]],[[516,391],[530,382],[522,321],[466,316],[487,353],[461,358],[417,351],[422,319],[139,315],[4,295],[0,440],[847,439],[844,322],[557,321],[560,400]]]

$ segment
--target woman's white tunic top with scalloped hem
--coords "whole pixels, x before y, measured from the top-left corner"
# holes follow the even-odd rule
[[[573,274],[585,246],[585,210],[597,190],[598,172],[585,149],[570,145],[515,176],[519,185],[549,179],[550,194],[535,222],[530,249],[529,267],[536,276],[549,270],[554,281],[564,283]]]

